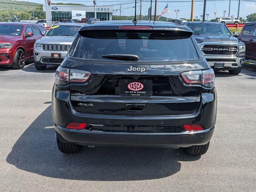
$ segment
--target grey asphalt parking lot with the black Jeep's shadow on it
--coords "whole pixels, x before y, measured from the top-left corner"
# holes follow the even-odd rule
[[[218,113],[208,152],[84,147],[62,154],[51,92],[56,67],[0,68],[0,191],[254,191],[256,72],[216,73]]]

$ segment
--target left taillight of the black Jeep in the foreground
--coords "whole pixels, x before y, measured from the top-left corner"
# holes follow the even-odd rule
[[[85,70],[69,69],[59,66],[55,74],[55,83],[64,86],[69,83],[85,83],[91,73]]]

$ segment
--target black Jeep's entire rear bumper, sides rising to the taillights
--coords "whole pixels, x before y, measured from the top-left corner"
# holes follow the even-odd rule
[[[158,146],[189,147],[202,145],[210,141],[216,122],[217,98],[215,89],[202,93],[201,104],[194,113],[169,116],[125,116],[81,113],[74,110],[70,102],[70,92],[57,90],[52,92],[52,114],[57,137],[63,142],[74,142],[83,145],[99,146]],[[75,130],[65,126],[70,122],[98,125],[124,126],[178,126],[200,124],[205,130],[183,132],[104,132],[87,129]]]

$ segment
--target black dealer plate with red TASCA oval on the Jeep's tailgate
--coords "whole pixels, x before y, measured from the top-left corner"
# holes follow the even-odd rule
[[[120,96],[150,97],[152,96],[152,80],[120,80]]]

